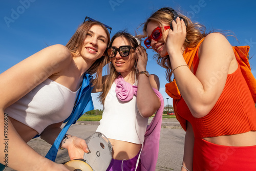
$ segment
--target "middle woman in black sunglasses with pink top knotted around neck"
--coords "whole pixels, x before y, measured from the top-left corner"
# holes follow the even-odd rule
[[[99,99],[104,105],[97,132],[108,137],[113,146],[113,160],[107,170],[155,170],[163,110],[159,79],[146,71],[147,53],[140,46],[140,40],[129,33],[116,33],[107,55],[109,75],[103,77],[103,88],[95,90],[101,91]],[[158,132],[151,144],[155,151],[152,148],[148,151],[150,145],[143,144],[148,117],[157,110],[161,113],[155,119]],[[145,169],[140,156],[150,157],[152,153],[154,161],[147,160],[151,165],[147,165],[150,169]]]

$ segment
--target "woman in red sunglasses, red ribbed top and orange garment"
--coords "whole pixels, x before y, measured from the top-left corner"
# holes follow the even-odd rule
[[[186,131],[181,170],[256,170],[256,83],[236,59],[241,52],[246,59],[248,49],[234,51],[224,35],[205,33],[171,8],[155,12],[143,31],[166,69],[166,93]]]

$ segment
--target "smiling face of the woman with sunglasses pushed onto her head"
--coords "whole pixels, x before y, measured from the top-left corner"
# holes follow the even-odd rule
[[[107,46],[108,36],[105,30],[99,25],[93,25],[83,41],[80,55],[87,61],[94,62],[96,59],[103,56]]]

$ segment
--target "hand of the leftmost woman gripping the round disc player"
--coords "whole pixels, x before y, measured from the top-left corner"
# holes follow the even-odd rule
[[[84,153],[89,153],[86,141],[75,136],[69,137],[62,147],[68,149],[71,160],[83,159]]]

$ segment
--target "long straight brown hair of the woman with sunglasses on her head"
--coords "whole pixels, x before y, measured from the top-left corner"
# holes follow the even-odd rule
[[[87,21],[87,22],[84,22],[83,24],[81,24],[78,27],[75,34],[71,37],[71,39],[69,40],[69,42],[66,45],[66,47],[70,50],[73,57],[75,57],[75,56],[77,56],[78,54],[81,53],[82,46],[83,46],[83,41],[86,38],[87,33],[90,30],[90,28],[94,25],[99,25],[104,29],[104,31],[106,32],[107,38],[108,38],[107,45],[109,45],[110,33],[109,33],[108,29],[106,29],[103,26],[103,24],[101,24],[100,22]],[[108,60],[108,59],[104,55],[101,56],[86,71],[87,73],[89,73],[91,75],[96,74],[95,79],[92,82],[92,86],[95,86],[95,87],[101,87],[102,86],[102,79],[101,79],[102,69],[106,64],[106,60]]]

